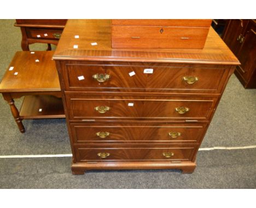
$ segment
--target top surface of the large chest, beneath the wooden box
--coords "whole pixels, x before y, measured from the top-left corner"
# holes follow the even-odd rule
[[[79,35],[79,38],[75,38],[75,35]],[[112,48],[111,20],[68,20],[53,58],[54,60],[240,64],[213,28],[210,28],[203,49]]]

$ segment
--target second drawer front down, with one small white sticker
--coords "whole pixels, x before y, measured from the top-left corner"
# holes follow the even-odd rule
[[[69,119],[208,119],[214,100],[66,96]]]

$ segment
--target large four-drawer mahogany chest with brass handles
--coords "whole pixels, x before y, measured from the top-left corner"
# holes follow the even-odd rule
[[[111,25],[111,20],[68,20],[54,54],[73,174],[192,173],[238,60],[213,29],[202,50],[140,50],[112,48]]]

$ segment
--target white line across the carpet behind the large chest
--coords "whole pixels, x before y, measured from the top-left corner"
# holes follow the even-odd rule
[[[199,151],[210,150],[240,150],[240,149],[252,149],[256,148],[256,145],[249,146],[214,146],[213,148],[199,148]],[[34,157],[72,157],[72,154],[59,154],[59,155],[0,155],[0,158],[34,158]]]

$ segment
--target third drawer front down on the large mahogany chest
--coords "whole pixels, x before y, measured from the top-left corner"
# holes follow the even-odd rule
[[[205,124],[84,125],[71,124],[73,143],[199,142]]]

